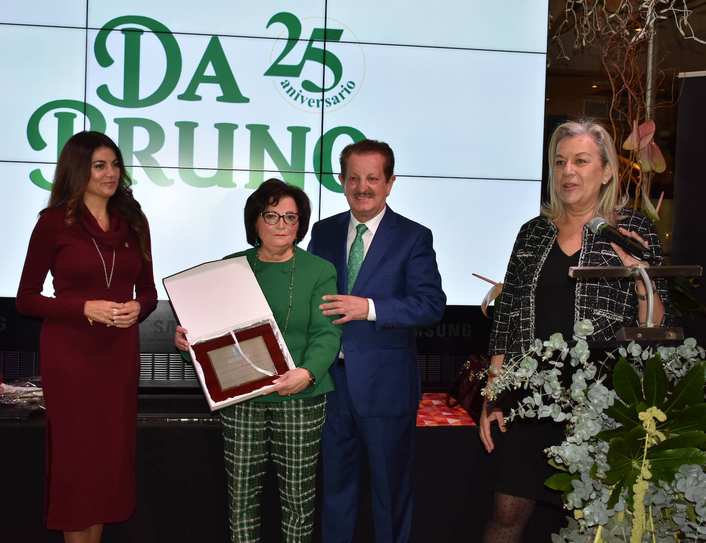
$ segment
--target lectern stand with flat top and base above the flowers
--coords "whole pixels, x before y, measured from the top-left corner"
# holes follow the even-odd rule
[[[569,268],[570,278],[626,278],[640,276],[645,285],[650,285],[650,278],[687,278],[701,275],[700,265],[660,265],[635,264],[631,266],[572,266]],[[649,292],[649,291],[648,291]],[[662,328],[654,326],[654,296],[647,297],[647,319],[635,328],[621,328],[616,333],[616,339],[630,340],[683,340],[681,328]]]

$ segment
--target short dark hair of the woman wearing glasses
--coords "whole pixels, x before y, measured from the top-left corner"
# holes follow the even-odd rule
[[[268,205],[277,205],[282,198],[291,197],[294,203],[297,204],[297,213],[299,213],[299,228],[297,229],[297,240],[306,236],[309,231],[309,219],[311,218],[311,202],[306,192],[299,189],[298,186],[289,185],[273,177],[268,179],[263,184],[258,186],[245,203],[244,220],[245,220],[245,237],[248,243],[256,245],[258,240],[258,231],[255,223],[258,222],[258,217]]]

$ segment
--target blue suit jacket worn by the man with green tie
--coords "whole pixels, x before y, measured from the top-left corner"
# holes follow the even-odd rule
[[[347,293],[350,212],[316,222],[309,251],[333,263]],[[436,323],[446,306],[431,230],[388,206],[360,268],[353,296],[375,302],[377,321],[343,325],[351,398],[361,417],[416,412],[421,399],[417,326]]]

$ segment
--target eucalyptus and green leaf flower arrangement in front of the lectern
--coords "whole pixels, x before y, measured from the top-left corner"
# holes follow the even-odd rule
[[[552,541],[706,541],[705,350],[693,339],[656,349],[630,342],[595,364],[591,321],[574,333],[574,347],[559,333],[535,340],[486,389],[489,400],[527,390],[509,420],[566,422],[566,439],[545,451],[558,470],[546,485],[563,491],[573,514]]]

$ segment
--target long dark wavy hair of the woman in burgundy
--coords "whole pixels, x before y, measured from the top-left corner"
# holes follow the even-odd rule
[[[112,149],[118,159],[120,179],[118,188],[109,200],[110,213],[114,213],[127,221],[130,228],[140,240],[140,252],[150,260],[148,248],[149,225],[140,203],[132,193],[132,179],[125,171],[125,162],[120,149],[114,141],[104,133],[95,131],[79,132],[68,138],[64,149],[56,162],[52,193],[49,196],[47,209],[64,208],[64,225],[71,226],[81,215],[83,193],[90,179],[91,159],[93,152],[100,147]]]

